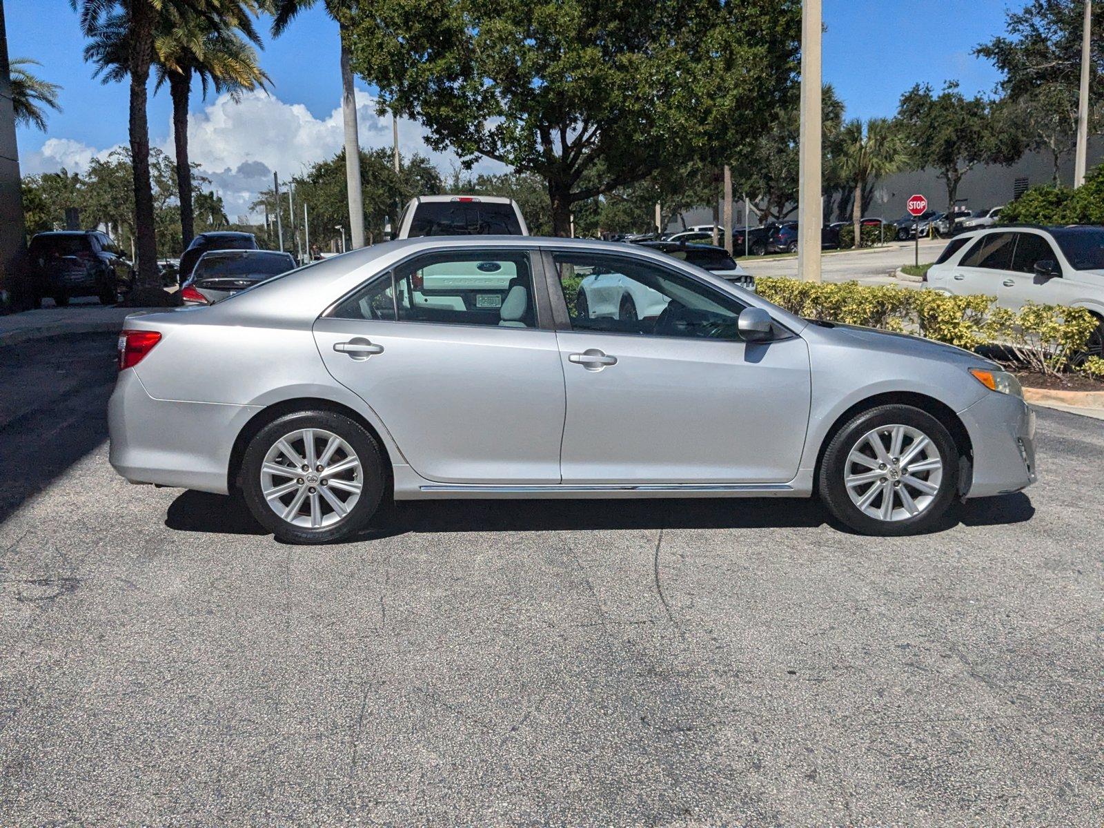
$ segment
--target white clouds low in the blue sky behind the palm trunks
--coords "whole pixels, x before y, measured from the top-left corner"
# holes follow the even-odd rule
[[[391,147],[391,116],[375,114],[375,100],[357,92],[357,124],[361,147]],[[250,213],[256,194],[272,185],[273,170],[280,180],[302,172],[312,163],[332,157],[344,141],[341,107],[325,118],[316,118],[302,104],[288,104],[263,92],[246,94],[240,102],[221,95],[202,112],[188,118],[189,152],[203,174],[211,179],[226,204],[231,219]],[[425,129],[411,120],[399,121],[399,147],[404,156],[421,152],[447,174],[458,166],[456,156],[434,152],[424,141]],[[172,128],[153,146],[173,153]],[[106,156],[114,147],[96,149],[70,138],[51,138],[22,159],[23,172],[71,171],[87,168],[95,156]],[[478,171],[501,172],[495,161],[481,160]]]

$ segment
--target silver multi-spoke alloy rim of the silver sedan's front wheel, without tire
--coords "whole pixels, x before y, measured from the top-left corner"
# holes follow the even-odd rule
[[[875,520],[915,518],[927,509],[943,482],[943,458],[931,437],[909,425],[867,432],[843,464],[848,497]]]

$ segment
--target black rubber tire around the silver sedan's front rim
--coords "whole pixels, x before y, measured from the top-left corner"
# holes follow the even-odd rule
[[[880,520],[862,511],[848,495],[845,482],[848,455],[863,435],[879,426],[899,424],[920,431],[934,444],[943,464],[942,479],[938,482],[937,491],[931,496],[931,501],[919,514],[900,520]],[[904,454],[903,452],[902,456]],[[947,510],[956,502],[958,466],[958,448],[943,423],[927,412],[911,405],[880,405],[851,417],[832,437],[820,463],[817,490],[829,511],[841,523],[861,534],[879,537],[917,534],[936,528],[945,519]],[[887,474],[889,475],[889,471]],[[932,475],[927,474],[927,477],[931,478]],[[889,476],[880,478],[871,486],[879,486],[881,480],[887,479]],[[873,502],[884,502],[881,497],[881,495],[875,496]],[[894,493],[893,497],[900,498],[900,495]],[[891,501],[891,503],[899,501]],[[902,502],[901,509],[903,510],[903,501],[900,502]]]

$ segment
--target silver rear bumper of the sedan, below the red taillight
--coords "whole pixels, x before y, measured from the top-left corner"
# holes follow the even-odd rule
[[[127,369],[107,406],[112,467],[130,482],[225,495],[234,440],[259,410],[155,400]]]

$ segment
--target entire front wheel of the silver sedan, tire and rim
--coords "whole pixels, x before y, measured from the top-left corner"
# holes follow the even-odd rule
[[[882,405],[850,420],[820,464],[821,499],[862,534],[915,534],[954,503],[958,450],[946,427],[910,405]]]

